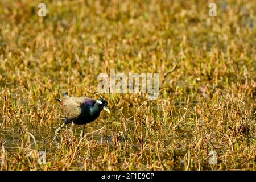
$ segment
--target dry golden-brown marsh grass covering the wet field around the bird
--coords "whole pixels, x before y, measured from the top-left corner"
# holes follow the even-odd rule
[[[212,1],[44,1],[42,18],[39,2],[0,2],[1,170],[256,169],[255,3],[216,1],[211,18]],[[112,68],[160,73],[159,98],[103,94],[112,115],[51,144],[53,98],[98,98]]]

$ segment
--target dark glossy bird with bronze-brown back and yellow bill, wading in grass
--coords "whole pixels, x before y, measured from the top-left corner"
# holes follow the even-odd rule
[[[55,130],[55,137],[53,140],[55,140],[60,130],[71,122],[76,125],[84,125],[80,134],[80,137],[82,138],[84,137],[85,125],[97,119],[102,110],[105,110],[110,114],[108,102],[103,98],[94,100],[89,97],[71,97],[65,92],[61,99],[55,98],[55,100],[60,102],[65,118],[63,124]]]

